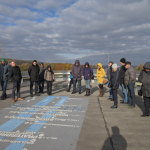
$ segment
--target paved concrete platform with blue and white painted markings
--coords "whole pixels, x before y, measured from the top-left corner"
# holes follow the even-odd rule
[[[91,85],[90,97],[85,97],[85,92],[72,95],[66,88],[58,87],[53,89],[51,98],[46,93],[30,98],[29,87],[23,87],[21,94],[25,100],[16,103],[11,102],[11,90],[8,90],[9,98],[0,101],[1,150],[16,144],[22,146],[13,150],[149,150],[150,118],[140,117],[144,110],[142,97],[136,96],[136,108],[130,109],[120,103],[122,94],[118,90],[119,107],[112,110],[107,86],[104,86],[104,97],[97,98],[98,86]],[[45,104],[46,99],[53,100]],[[22,122],[16,123],[15,128],[9,123],[13,119]],[[3,131],[8,130],[7,123],[11,131]]]

